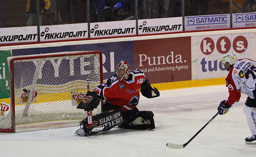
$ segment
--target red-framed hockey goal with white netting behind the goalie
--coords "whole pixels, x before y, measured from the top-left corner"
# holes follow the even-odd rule
[[[15,132],[15,124],[85,119],[77,105],[103,83],[102,53],[73,51],[8,57],[10,111],[0,119],[0,132]],[[71,99],[72,97],[72,99]],[[101,113],[101,106],[92,114]]]

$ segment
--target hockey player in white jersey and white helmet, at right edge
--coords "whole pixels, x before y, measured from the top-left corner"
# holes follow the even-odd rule
[[[231,106],[237,105],[241,93],[246,94],[248,97],[243,112],[252,136],[245,138],[245,143],[256,144],[256,62],[250,59],[237,59],[233,52],[229,52],[221,57],[221,65],[229,71],[226,78],[229,98],[220,102],[219,114],[227,113]]]

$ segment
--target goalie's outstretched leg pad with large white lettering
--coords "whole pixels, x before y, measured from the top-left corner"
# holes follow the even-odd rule
[[[87,127],[87,118],[80,122],[81,125],[83,125],[85,136],[96,134],[102,131],[108,131],[124,122],[120,107],[94,115],[92,116],[92,120],[93,124],[90,127]]]

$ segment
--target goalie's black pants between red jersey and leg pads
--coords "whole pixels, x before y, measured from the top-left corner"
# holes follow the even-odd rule
[[[105,101],[102,106],[102,112],[112,110],[114,108],[118,108],[119,106],[115,106],[113,104],[110,104],[109,102]],[[131,123],[136,118],[140,117],[139,110],[137,107],[133,108],[133,110],[130,111],[122,111],[123,119],[126,123]]]

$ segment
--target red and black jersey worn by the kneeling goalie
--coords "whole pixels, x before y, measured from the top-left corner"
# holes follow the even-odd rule
[[[115,74],[93,91],[100,100],[121,106],[124,111],[132,110],[139,103],[141,85],[146,79],[144,72],[136,69],[131,71],[127,80],[119,82]]]

